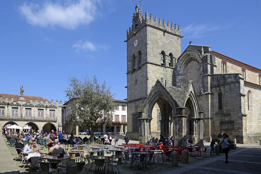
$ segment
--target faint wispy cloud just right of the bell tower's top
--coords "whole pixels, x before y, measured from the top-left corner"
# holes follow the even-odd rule
[[[187,34],[187,37],[191,38],[199,38],[204,35],[206,32],[219,30],[220,28],[215,25],[209,25],[209,24],[198,24],[192,23],[185,27],[182,30],[182,34]]]

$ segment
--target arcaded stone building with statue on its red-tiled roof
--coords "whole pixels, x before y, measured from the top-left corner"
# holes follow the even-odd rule
[[[23,95],[23,88],[20,95],[0,94],[0,125],[2,129],[16,124],[23,129],[58,131],[62,129],[61,107],[58,100]]]

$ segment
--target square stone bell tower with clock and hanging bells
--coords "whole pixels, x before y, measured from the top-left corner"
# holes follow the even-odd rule
[[[139,140],[142,106],[157,81],[174,85],[174,67],[181,54],[180,25],[142,15],[138,5],[132,26],[127,30],[127,100],[128,128],[132,140]]]

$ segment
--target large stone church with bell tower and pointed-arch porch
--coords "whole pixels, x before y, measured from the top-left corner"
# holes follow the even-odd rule
[[[138,5],[127,30],[127,134],[146,143],[174,135],[175,145],[261,138],[261,69],[193,45],[181,52],[180,25]]]

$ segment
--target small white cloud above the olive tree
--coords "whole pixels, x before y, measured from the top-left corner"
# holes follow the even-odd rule
[[[97,49],[107,50],[110,46],[109,45],[100,45],[100,44],[94,44],[89,41],[83,41],[79,40],[75,44],[73,44],[73,47],[77,52],[80,50],[82,51],[97,51]]]

